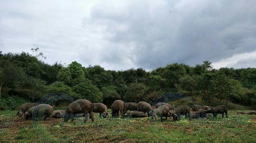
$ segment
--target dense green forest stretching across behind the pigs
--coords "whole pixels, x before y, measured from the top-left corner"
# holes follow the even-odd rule
[[[36,102],[48,93],[65,93],[110,106],[115,99],[153,103],[166,93],[183,93],[196,103],[233,103],[256,108],[256,68],[215,69],[210,61],[194,66],[170,63],[151,71],[143,68],[106,70],[79,62],[47,64],[39,48],[33,54],[0,51],[0,106]],[[230,104],[229,104],[230,103]]]

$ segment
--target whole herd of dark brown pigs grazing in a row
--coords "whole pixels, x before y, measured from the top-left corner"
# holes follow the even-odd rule
[[[174,121],[180,120],[181,115],[185,115],[185,118],[209,118],[211,114],[214,118],[217,117],[217,114],[224,114],[226,118],[228,117],[228,110],[226,106],[199,106],[193,105],[191,108],[189,106],[175,106],[167,103],[157,103],[154,106],[151,106],[147,102],[141,101],[139,103],[134,102],[123,102],[122,100],[115,100],[111,106],[111,115],[112,117],[131,117],[131,118],[143,118],[151,117],[153,121],[157,118],[163,121],[169,118],[173,118]],[[67,106],[66,110],[54,110],[53,106],[48,104],[39,104],[36,103],[25,103],[19,107],[19,110],[16,116],[24,115],[24,118],[32,118],[33,115],[45,120],[46,118],[63,118],[64,122],[70,120],[73,122],[74,118],[84,117],[84,122],[90,118],[92,122],[94,121],[94,113],[99,113],[100,118],[108,117],[108,108],[102,103],[91,103],[87,99],[78,99]],[[243,114],[244,112],[239,112]],[[249,112],[254,114],[255,112]]]

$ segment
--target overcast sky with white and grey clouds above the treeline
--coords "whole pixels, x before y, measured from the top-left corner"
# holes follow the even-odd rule
[[[256,0],[0,0],[0,50],[151,70],[256,67]]]

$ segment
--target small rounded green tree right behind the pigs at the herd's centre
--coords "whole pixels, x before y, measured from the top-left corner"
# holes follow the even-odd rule
[[[138,103],[144,98],[146,91],[148,91],[148,87],[146,87],[143,83],[132,83],[130,86],[128,86],[125,99],[127,101],[134,101],[135,103]]]

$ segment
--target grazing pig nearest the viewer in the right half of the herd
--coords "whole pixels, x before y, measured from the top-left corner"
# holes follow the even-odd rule
[[[159,106],[156,109],[153,109],[149,112],[149,114],[152,116],[153,121],[156,120],[156,116],[160,117],[161,122],[162,122],[162,117],[165,117],[165,119],[168,118],[168,113],[169,113],[169,107],[166,105]]]

